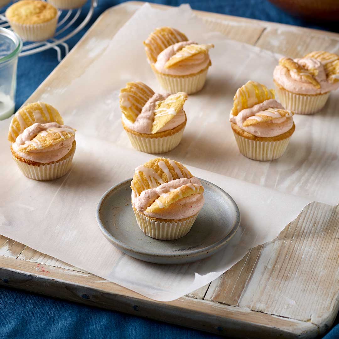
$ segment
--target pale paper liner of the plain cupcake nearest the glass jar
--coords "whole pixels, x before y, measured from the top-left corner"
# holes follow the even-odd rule
[[[9,24],[23,40],[26,41],[43,41],[49,38],[53,38],[57,29],[58,16],[54,19],[39,23],[35,25],[24,25],[9,20]]]

